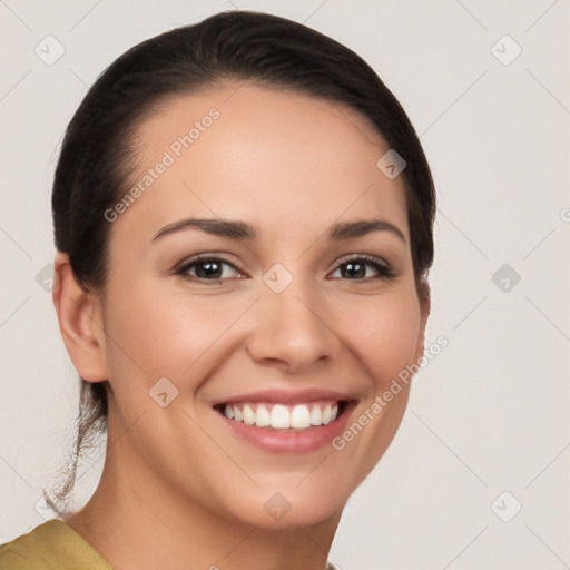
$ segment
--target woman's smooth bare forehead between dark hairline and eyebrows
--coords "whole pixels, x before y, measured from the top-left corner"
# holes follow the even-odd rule
[[[139,188],[128,208],[137,215],[121,225],[142,233],[184,215],[256,216],[267,232],[382,216],[407,233],[403,176],[389,179],[376,166],[387,144],[336,102],[228,83],[160,102],[135,146],[126,191]]]

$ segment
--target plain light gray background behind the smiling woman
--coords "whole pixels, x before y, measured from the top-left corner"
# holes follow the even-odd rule
[[[227,9],[305,22],[367,60],[421,135],[439,191],[428,344],[450,345],[417,376],[331,559],[342,570],[570,568],[568,0],[0,0],[0,542],[43,522],[36,502],[77,410],[77,376],[37,282],[55,252],[50,183],[65,126],[127,48]],[[52,66],[35,53],[48,35],[65,47]],[[492,51],[504,35],[522,48],[510,65]],[[502,40],[494,52],[515,49]],[[507,292],[492,279],[503,264],[521,277]]]

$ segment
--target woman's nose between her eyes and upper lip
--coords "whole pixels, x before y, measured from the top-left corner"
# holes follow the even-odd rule
[[[325,301],[298,279],[282,293],[263,291],[256,303],[255,327],[248,336],[250,356],[292,373],[333,360],[342,343],[330,322]]]

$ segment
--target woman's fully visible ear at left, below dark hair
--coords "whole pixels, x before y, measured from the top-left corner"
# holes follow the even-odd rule
[[[87,382],[107,380],[105,332],[99,297],[85,291],[67,254],[56,254],[52,298],[59,330],[79,375]]]

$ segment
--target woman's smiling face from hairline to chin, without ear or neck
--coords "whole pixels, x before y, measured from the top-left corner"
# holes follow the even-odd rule
[[[429,311],[389,147],[345,107],[252,85],[173,98],[136,146],[138,191],[106,222],[108,461],[150,509],[340,518],[401,422],[407,385],[383,394]]]

